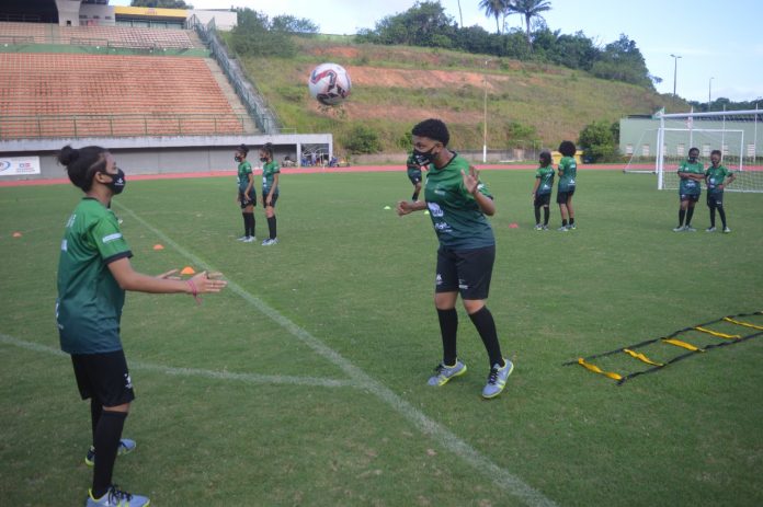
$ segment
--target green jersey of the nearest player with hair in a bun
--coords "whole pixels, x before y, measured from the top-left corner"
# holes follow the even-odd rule
[[[119,320],[125,291],[109,263],[133,253],[114,212],[83,198],[66,224],[58,261],[56,321],[61,349],[102,354],[122,349]]]

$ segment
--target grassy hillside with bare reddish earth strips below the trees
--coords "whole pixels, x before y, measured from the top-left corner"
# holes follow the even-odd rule
[[[398,151],[411,126],[426,117],[447,122],[454,146],[480,150],[486,84],[491,149],[532,141],[553,147],[576,140],[593,120],[687,108],[670,95],[551,65],[502,58],[486,65],[480,55],[335,39],[297,38],[297,44],[295,58],[244,57],[243,67],[285,128],[330,131],[340,150],[362,125],[377,132],[383,151]],[[352,78],[352,95],[340,107],[321,107],[307,91],[310,70],[324,61],[342,65]]]

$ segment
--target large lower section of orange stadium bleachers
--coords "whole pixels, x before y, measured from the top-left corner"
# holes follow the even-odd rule
[[[1,138],[241,132],[202,58],[0,54]]]

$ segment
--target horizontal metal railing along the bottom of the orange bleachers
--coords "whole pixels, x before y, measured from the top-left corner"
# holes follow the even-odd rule
[[[244,132],[246,115],[7,115],[0,116],[0,139],[209,136]]]

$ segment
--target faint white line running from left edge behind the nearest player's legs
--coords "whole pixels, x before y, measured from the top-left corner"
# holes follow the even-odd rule
[[[48,347],[46,345],[26,342],[24,339],[14,338],[7,334],[0,333],[0,343],[5,345],[14,345],[27,350],[49,354],[59,357],[69,357],[68,354],[58,348]],[[252,384],[291,384],[291,385],[310,385],[321,388],[352,388],[351,380],[332,380],[332,379],[316,379],[312,377],[289,377],[283,375],[258,375],[258,373],[235,373],[232,371],[216,371],[203,370],[198,368],[173,368],[169,366],[151,365],[150,362],[127,361],[130,370],[158,371],[164,375],[174,375],[178,377],[204,377],[207,379],[217,380],[235,380]]]

